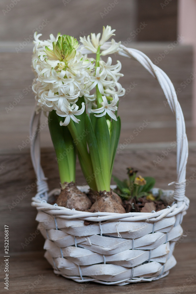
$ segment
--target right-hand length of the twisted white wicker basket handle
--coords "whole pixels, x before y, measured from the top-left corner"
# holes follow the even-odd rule
[[[188,141],[185,129],[185,120],[177,100],[175,88],[170,78],[165,72],[153,62],[144,53],[137,49],[127,48],[120,45],[121,50],[118,54],[137,60],[149,73],[158,80],[171,111],[176,116],[176,142],[177,142],[177,181],[175,183],[174,199],[178,206],[185,198],[186,187],[186,164],[188,158]],[[172,183],[171,183],[172,184]]]

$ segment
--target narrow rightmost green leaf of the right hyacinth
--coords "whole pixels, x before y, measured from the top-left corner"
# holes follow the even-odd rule
[[[114,159],[116,155],[116,150],[120,138],[120,116],[118,116],[117,121],[112,120],[112,130],[110,133],[110,155],[111,155],[111,168],[110,168],[110,177],[112,176],[112,170],[114,165]]]

